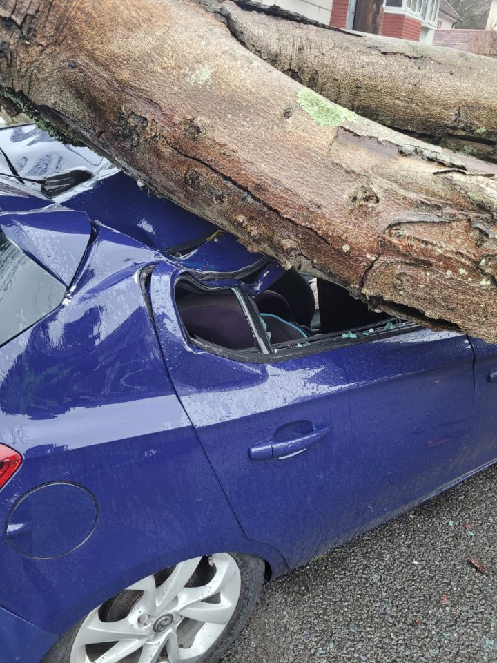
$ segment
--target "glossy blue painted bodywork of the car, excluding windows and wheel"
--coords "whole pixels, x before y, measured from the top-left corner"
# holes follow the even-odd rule
[[[0,146],[25,176],[93,173],[57,200],[74,212],[0,176],[0,224],[70,284],[0,347],[0,442],[23,457],[0,491],[0,660],[39,663],[177,561],[233,550],[278,575],[496,460],[496,346],[413,327],[251,363],[206,352],[177,280],[255,294],[282,268],[235,278],[260,256],[86,150],[33,128]]]

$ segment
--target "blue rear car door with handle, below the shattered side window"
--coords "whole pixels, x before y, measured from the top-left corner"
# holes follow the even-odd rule
[[[188,343],[174,278],[159,266],[151,292],[177,394],[246,535],[290,565],[473,469],[466,336],[413,328],[237,361]]]

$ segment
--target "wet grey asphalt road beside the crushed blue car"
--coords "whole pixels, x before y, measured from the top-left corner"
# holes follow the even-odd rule
[[[497,662],[496,524],[494,467],[271,582],[224,663]]]

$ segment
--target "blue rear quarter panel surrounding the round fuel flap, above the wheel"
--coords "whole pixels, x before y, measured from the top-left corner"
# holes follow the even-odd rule
[[[52,633],[186,557],[240,550],[287,568],[243,535],[170,383],[139,277],[157,260],[101,227],[65,305],[0,348],[0,439],[23,456],[0,492],[0,606]],[[89,490],[97,524],[67,555],[26,557],[6,537],[9,514],[52,482]],[[68,515],[59,527],[71,536]]]

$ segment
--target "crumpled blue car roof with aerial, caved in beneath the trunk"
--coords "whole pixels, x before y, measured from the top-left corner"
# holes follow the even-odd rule
[[[170,200],[149,195],[89,148],[64,145],[34,124],[1,129],[0,153],[2,211],[57,203],[85,212],[202,275],[255,271],[270,262],[230,233]]]

